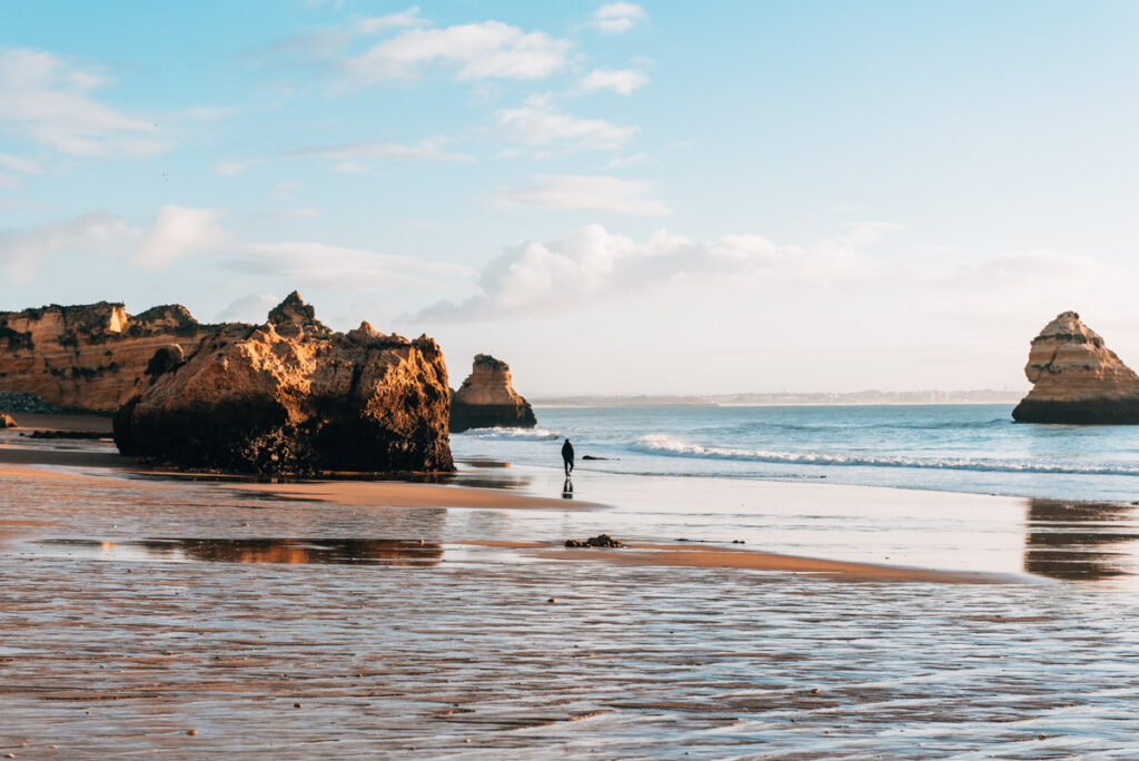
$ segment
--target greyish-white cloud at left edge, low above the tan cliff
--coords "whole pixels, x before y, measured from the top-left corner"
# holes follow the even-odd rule
[[[0,265],[11,283],[28,283],[46,257],[76,247],[104,248],[129,228],[110,214],[84,214],[26,230],[0,230]]]

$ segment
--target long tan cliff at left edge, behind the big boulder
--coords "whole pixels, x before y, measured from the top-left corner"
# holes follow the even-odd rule
[[[134,317],[106,301],[0,312],[0,391],[112,412],[130,398],[156,349],[189,350],[222,327],[199,324],[178,304]]]

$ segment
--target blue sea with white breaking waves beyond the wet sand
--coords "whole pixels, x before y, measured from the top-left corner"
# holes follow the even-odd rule
[[[827,481],[1139,500],[1139,426],[1014,423],[1007,404],[546,407],[539,427],[451,437],[460,459],[579,469]],[[604,458],[604,459],[584,459]]]

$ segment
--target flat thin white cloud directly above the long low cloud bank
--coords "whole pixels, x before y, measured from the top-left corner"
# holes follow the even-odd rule
[[[667,204],[650,197],[652,190],[653,186],[642,180],[555,174],[505,188],[491,199],[503,206],[541,206],[560,211],[600,211],[639,216],[671,214],[672,208]]]

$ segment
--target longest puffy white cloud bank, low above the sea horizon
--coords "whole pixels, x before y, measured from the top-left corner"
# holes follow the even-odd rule
[[[667,288],[694,301],[714,294],[726,311],[739,313],[749,304],[777,310],[813,304],[828,314],[849,312],[852,319],[870,312],[909,316],[882,324],[886,336],[910,330],[915,321],[926,329],[953,325],[984,332],[1023,322],[1026,314],[1034,316],[1030,322],[1043,324],[1087,303],[1125,319],[1133,312],[1133,280],[1124,268],[1055,251],[912,267],[828,243],[782,246],[756,235],[699,242],[666,230],[639,243],[590,224],[559,240],[509,246],[483,268],[475,295],[458,303],[440,301],[413,319],[510,319],[583,309],[599,300],[624,303],[634,294]]]

